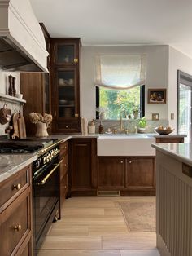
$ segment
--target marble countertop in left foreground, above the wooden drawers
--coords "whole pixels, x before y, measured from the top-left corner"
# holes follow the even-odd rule
[[[0,154],[0,182],[37,160],[37,155]]]

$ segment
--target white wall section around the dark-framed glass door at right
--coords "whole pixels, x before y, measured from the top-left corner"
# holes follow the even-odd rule
[[[168,119],[169,125],[175,128],[177,128],[177,70],[192,76],[192,59],[169,46]],[[171,120],[171,113],[174,113],[174,120]]]

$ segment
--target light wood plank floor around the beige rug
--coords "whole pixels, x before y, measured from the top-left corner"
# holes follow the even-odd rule
[[[155,197],[69,198],[39,256],[159,256],[155,232],[129,232],[118,201],[155,201]]]

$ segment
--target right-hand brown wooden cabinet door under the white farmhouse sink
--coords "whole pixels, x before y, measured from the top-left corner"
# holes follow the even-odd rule
[[[155,188],[154,157],[130,157],[127,159],[126,188]]]

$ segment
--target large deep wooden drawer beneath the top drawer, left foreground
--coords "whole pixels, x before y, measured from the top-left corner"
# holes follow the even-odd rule
[[[27,188],[0,214],[0,255],[15,255],[31,237],[31,196]]]

